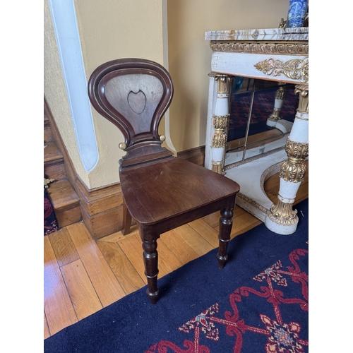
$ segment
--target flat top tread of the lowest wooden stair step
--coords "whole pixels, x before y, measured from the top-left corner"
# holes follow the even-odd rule
[[[72,208],[80,204],[80,198],[68,179],[54,181],[47,191],[54,209]]]

